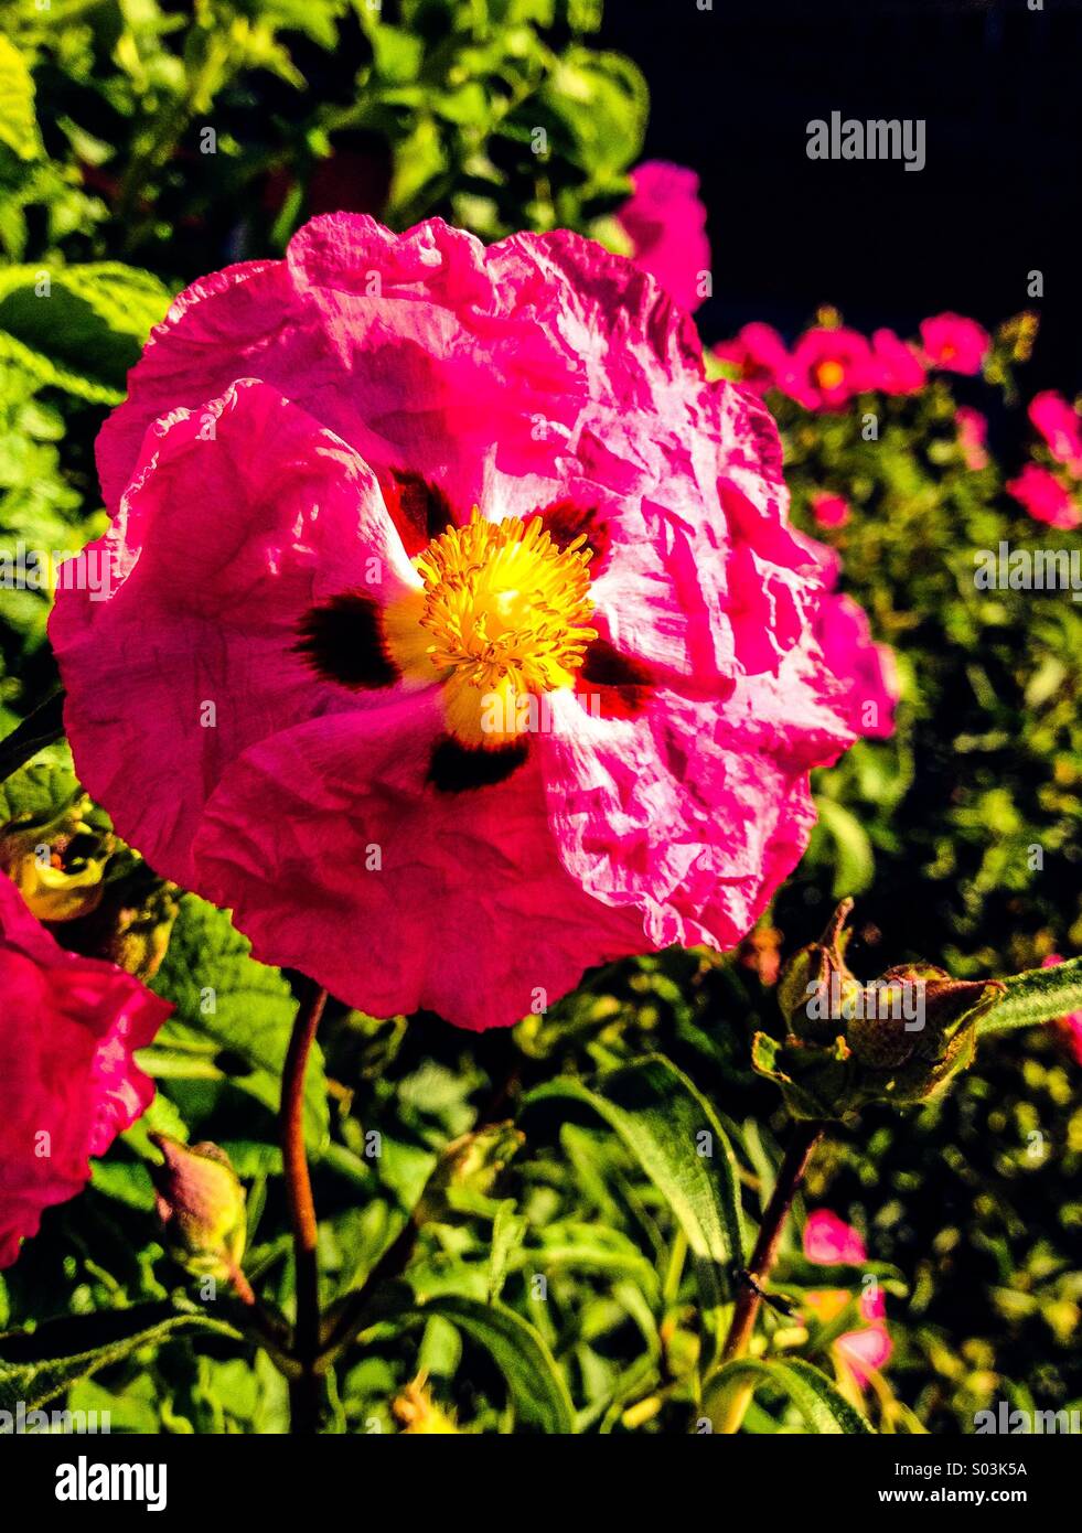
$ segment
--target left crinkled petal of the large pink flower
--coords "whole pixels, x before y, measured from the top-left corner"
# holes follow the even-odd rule
[[[75,567],[98,558],[104,599],[70,589],[49,624],[67,736],[116,831],[192,888],[225,766],[302,719],[365,705],[297,653],[302,616],[415,576],[365,463],[251,380],[150,428],[116,521]]]

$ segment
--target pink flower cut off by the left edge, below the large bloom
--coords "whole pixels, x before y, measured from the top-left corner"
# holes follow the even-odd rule
[[[75,1197],[153,1085],[133,1053],[172,1006],[115,964],[57,946],[0,874],[0,1268]]]

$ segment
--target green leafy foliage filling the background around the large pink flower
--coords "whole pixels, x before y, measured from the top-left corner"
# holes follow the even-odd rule
[[[642,144],[645,84],[595,46],[599,0],[3,0],[0,18],[0,555],[15,561],[101,530],[93,435],[184,282],[279,253],[330,207],[395,227],[441,213],[483,238],[589,230]],[[976,549],[1077,538],[1008,509],[995,461],[966,466],[943,380],[837,415],[771,405],[797,523],[814,529],[821,491],[854,507],[826,537],[897,650],[897,734],[818,774],[809,855],[736,955],[602,970],[507,1033],[331,1007],[305,1122],[333,1430],[694,1430],[734,1231],[780,1156],[777,1093],[749,1067],[754,1032],[782,1032],[779,950],[818,935],[841,892],[860,897],[861,975],[913,958],[1005,973],[1082,949],[1082,607],[972,578]],[[3,730],[55,681],[54,578],[51,563],[23,581],[40,589],[0,586]],[[37,826],[74,802],[57,750],[0,809]],[[280,1432],[287,1384],[228,1297],[201,1302],[173,1265],[149,1165],[152,1134],[228,1154],[245,1272],[288,1312],[274,1105],[290,977],[253,963],[221,912],[147,888],[95,814],[101,911],[178,1009],[147,1052],[150,1113],[0,1279],[0,1406],[37,1390],[109,1410],[113,1430]],[[54,929],[101,950],[98,917]],[[841,1395],[880,1430],[972,1430],[998,1398],[1079,1406],[1076,1081],[1054,1030],[1007,1035],[944,1099],[904,1119],[871,1108],[820,1151],[806,1202],[855,1223],[869,1262],[812,1268],[797,1210],[762,1325],[786,1369],[763,1377],[748,1430],[841,1421]],[[687,1182],[673,1124],[696,1142]],[[800,1302],[857,1295],[867,1274],[895,1352],[861,1397],[834,1348],[854,1306],[825,1323]]]

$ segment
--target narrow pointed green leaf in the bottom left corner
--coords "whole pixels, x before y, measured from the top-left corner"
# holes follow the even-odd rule
[[[161,1305],[48,1321],[31,1332],[0,1335],[0,1410],[18,1401],[37,1410],[100,1367],[121,1363],[144,1346],[181,1331],[241,1338],[233,1326],[201,1314],[176,1314]]]

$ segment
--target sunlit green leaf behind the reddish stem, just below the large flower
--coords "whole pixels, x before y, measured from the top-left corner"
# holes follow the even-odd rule
[[[169,952],[152,989],[176,1013],[158,1042],[144,1050],[150,1075],[179,1076],[189,1059],[196,1075],[228,1075],[233,1085],[277,1113],[282,1065],[297,1004],[277,969],[250,957],[251,946],[224,911],[185,894]],[[143,1058],[143,1056],[141,1056]],[[156,1069],[161,1058],[164,1069]],[[305,1141],[320,1153],[328,1137],[326,1078],[314,1047],[305,1076]]]

